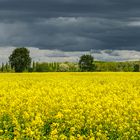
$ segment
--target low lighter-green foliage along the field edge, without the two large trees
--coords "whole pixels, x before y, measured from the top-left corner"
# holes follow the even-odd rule
[[[94,71],[97,72],[139,72],[140,61],[130,62],[103,62],[94,61]],[[78,63],[74,62],[34,62],[28,69],[29,72],[78,72],[81,71]],[[2,63],[0,72],[14,72],[6,63]]]

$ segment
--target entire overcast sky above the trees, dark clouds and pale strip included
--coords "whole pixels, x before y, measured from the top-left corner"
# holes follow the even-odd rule
[[[0,62],[22,46],[36,61],[90,50],[97,60],[139,60],[140,0],[0,0]]]

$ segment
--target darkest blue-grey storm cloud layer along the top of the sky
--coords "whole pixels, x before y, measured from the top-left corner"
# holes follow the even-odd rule
[[[140,14],[139,5],[139,0],[0,0],[0,10],[7,11],[5,16],[11,14],[21,19],[58,16],[137,17]]]

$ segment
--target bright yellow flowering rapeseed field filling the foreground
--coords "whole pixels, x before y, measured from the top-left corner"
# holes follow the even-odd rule
[[[0,74],[1,140],[140,139],[140,73]]]

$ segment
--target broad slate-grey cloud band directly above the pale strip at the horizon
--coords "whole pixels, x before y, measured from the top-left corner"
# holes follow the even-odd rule
[[[41,49],[89,51],[91,49],[140,50],[139,27],[127,21],[89,17],[58,17],[0,23],[0,44]]]

